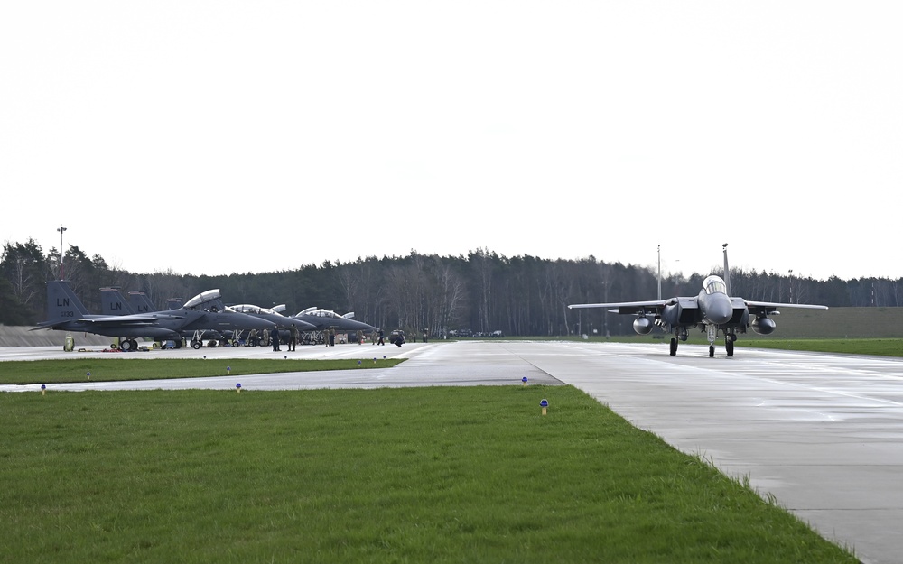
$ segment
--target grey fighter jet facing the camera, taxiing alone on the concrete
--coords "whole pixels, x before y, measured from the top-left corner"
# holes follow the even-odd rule
[[[687,330],[699,327],[709,340],[709,356],[715,356],[715,339],[718,332],[724,335],[724,349],[727,356],[733,356],[737,333],[746,333],[751,327],[760,335],[769,335],[777,325],[769,315],[778,315],[778,308],[805,308],[827,310],[827,306],[802,303],[775,303],[752,301],[731,297],[731,273],[728,268],[728,245],[721,245],[724,251],[724,278],[712,274],[703,280],[703,289],[696,296],[675,297],[651,301],[625,301],[619,303],[582,303],[569,305],[575,308],[613,308],[613,313],[636,315],[633,330],[647,335],[655,327],[671,333],[671,356],[677,355],[677,344],[685,341]],[[752,320],[750,321],[750,317]]]

